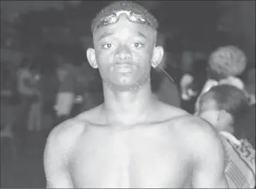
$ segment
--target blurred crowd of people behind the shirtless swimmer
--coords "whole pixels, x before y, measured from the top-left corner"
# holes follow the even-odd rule
[[[182,107],[213,124],[224,138],[229,157],[237,154],[234,149],[246,147],[246,164],[254,167],[255,68],[246,68],[243,51],[229,45],[210,55],[184,51],[176,60],[172,56],[167,52],[161,65],[151,70],[153,94],[164,103]],[[50,68],[45,61],[51,62]],[[63,54],[48,59],[24,57],[18,67],[5,68],[1,76],[1,118],[16,123],[12,125],[16,135],[51,130],[103,103],[98,71],[86,61],[76,64]],[[15,114],[10,106],[16,109]],[[6,123],[1,121],[1,132]],[[246,171],[247,165],[239,166]],[[255,185],[255,168],[252,170],[246,177],[250,188]],[[228,171],[227,177],[234,187],[243,185],[234,182]]]

